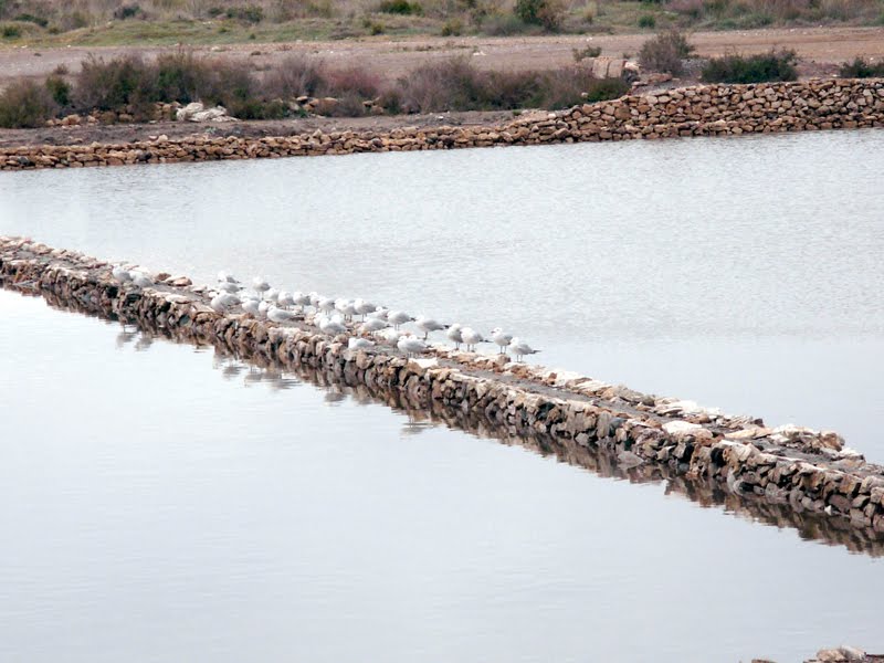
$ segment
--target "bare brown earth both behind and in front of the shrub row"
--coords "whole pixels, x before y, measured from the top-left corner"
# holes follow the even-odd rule
[[[648,34],[552,35],[519,38],[415,38],[391,41],[365,39],[335,42],[297,42],[284,44],[236,44],[198,46],[194,50],[211,57],[249,60],[256,70],[278,64],[292,53],[320,59],[335,67],[365,66],[388,80],[401,76],[418,64],[452,55],[471,55],[483,69],[543,70],[573,63],[572,50],[593,44],[602,54],[634,54]],[[727,52],[755,53],[771,48],[794,49],[802,57],[802,76],[833,75],[840,63],[855,56],[884,57],[884,28],[801,28],[733,32],[697,32],[691,35],[698,56]],[[138,53],[155,57],[175,46],[103,46],[69,49],[0,49],[0,87],[20,76],[42,77],[64,64],[71,72],[90,53],[114,57]],[[694,78],[695,80],[695,78]],[[691,78],[675,80],[667,86],[691,84]],[[646,90],[646,88],[645,88]],[[71,145],[90,143],[131,143],[166,135],[169,138],[206,134],[211,136],[290,136],[322,129],[390,130],[396,127],[432,127],[439,125],[498,124],[512,118],[511,112],[442,113],[406,116],[356,118],[309,117],[285,120],[253,120],[230,124],[150,123],[108,126],[46,127],[40,129],[0,129],[0,146]]]

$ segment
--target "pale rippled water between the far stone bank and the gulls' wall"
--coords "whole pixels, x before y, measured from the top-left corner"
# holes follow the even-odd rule
[[[884,462],[884,131],[0,178],[0,233],[364,296]]]

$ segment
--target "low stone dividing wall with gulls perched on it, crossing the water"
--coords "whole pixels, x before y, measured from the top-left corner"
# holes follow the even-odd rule
[[[337,383],[392,393],[409,409],[433,412],[459,428],[526,445],[536,440],[540,450],[601,474],[638,467],[632,475],[656,476],[662,470],[666,477],[692,480],[691,486],[705,483],[723,502],[725,494],[748,498],[735,497],[739,504],[765,501],[770,504],[757,512],[791,513],[794,523],[813,523],[812,528],[853,527],[863,532],[856,540],[884,540],[884,467],[842,449],[834,433],[771,430],[758,420],[499,357],[434,350],[434,359],[414,361],[390,348],[352,351],[346,336],[324,336],[308,319],[281,326],[218,314],[189,280],[166,277],[144,290],[120,286],[106,263],[23,240],[0,238],[0,277],[105,317],[228,348],[250,361],[313,369]]]

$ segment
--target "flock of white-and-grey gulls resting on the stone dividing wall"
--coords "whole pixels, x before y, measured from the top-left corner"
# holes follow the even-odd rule
[[[155,285],[146,273],[124,265],[114,266],[112,274],[120,283],[131,283],[141,288]],[[356,350],[367,350],[377,343],[386,343],[407,356],[414,357],[430,350],[427,344],[430,334],[444,332],[455,349],[463,345],[466,351],[474,352],[478,344],[493,343],[502,355],[512,352],[516,361],[523,361],[525,356],[540,351],[499,327],[492,329],[488,338],[485,338],[472,327],[446,325],[423,315],[412,317],[403,311],[375,306],[360,298],[336,298],[315,292],[305,294],[276,290],[271,287],[266,278],[260,276],[252,280],[251,288],[246,288],[231,274],[220,272],[218,284],[210,293],[212,298],[209,305],[217,313],[229,313],[240,306],[245,313],[273,323],[292,322],[298,315],[307,319],[307,308],[313,308],[312,322],[323,334],[337,336],[356,332],[358,336],[350,337],[348,341],[348,347]],[[359,319],[356,319],[357,316]],[[402,325],[410,323],[423,334],[422,337],[401,330]]]

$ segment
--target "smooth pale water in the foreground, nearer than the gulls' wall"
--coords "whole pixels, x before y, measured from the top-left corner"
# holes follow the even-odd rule
[[[880,557],[41,299],[0,311],[0,660],[884,650]]]

